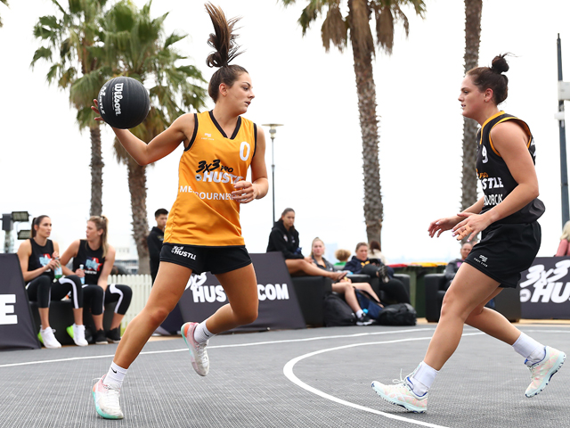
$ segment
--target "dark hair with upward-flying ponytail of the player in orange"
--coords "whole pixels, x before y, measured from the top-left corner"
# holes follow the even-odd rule
[[[208,55],[206,63],[208,67],[219,68],[210,79],[208,95],[216,103],[220,92],[220,84],[224,83],[227,86],[232,86],[237,78],[242,73],[247,73],[248,70],[239,65],[230,65],[230,62],[240,54],[240,46],[235,41],[238,36],[233,33],[233,26],[237,21],[240,21],[240,18],[226,20],[224,11],[211,3],[206,4],[206,11],[214,25],[214,33],[210,34],[208,45],[216,49],[215,52]]]

